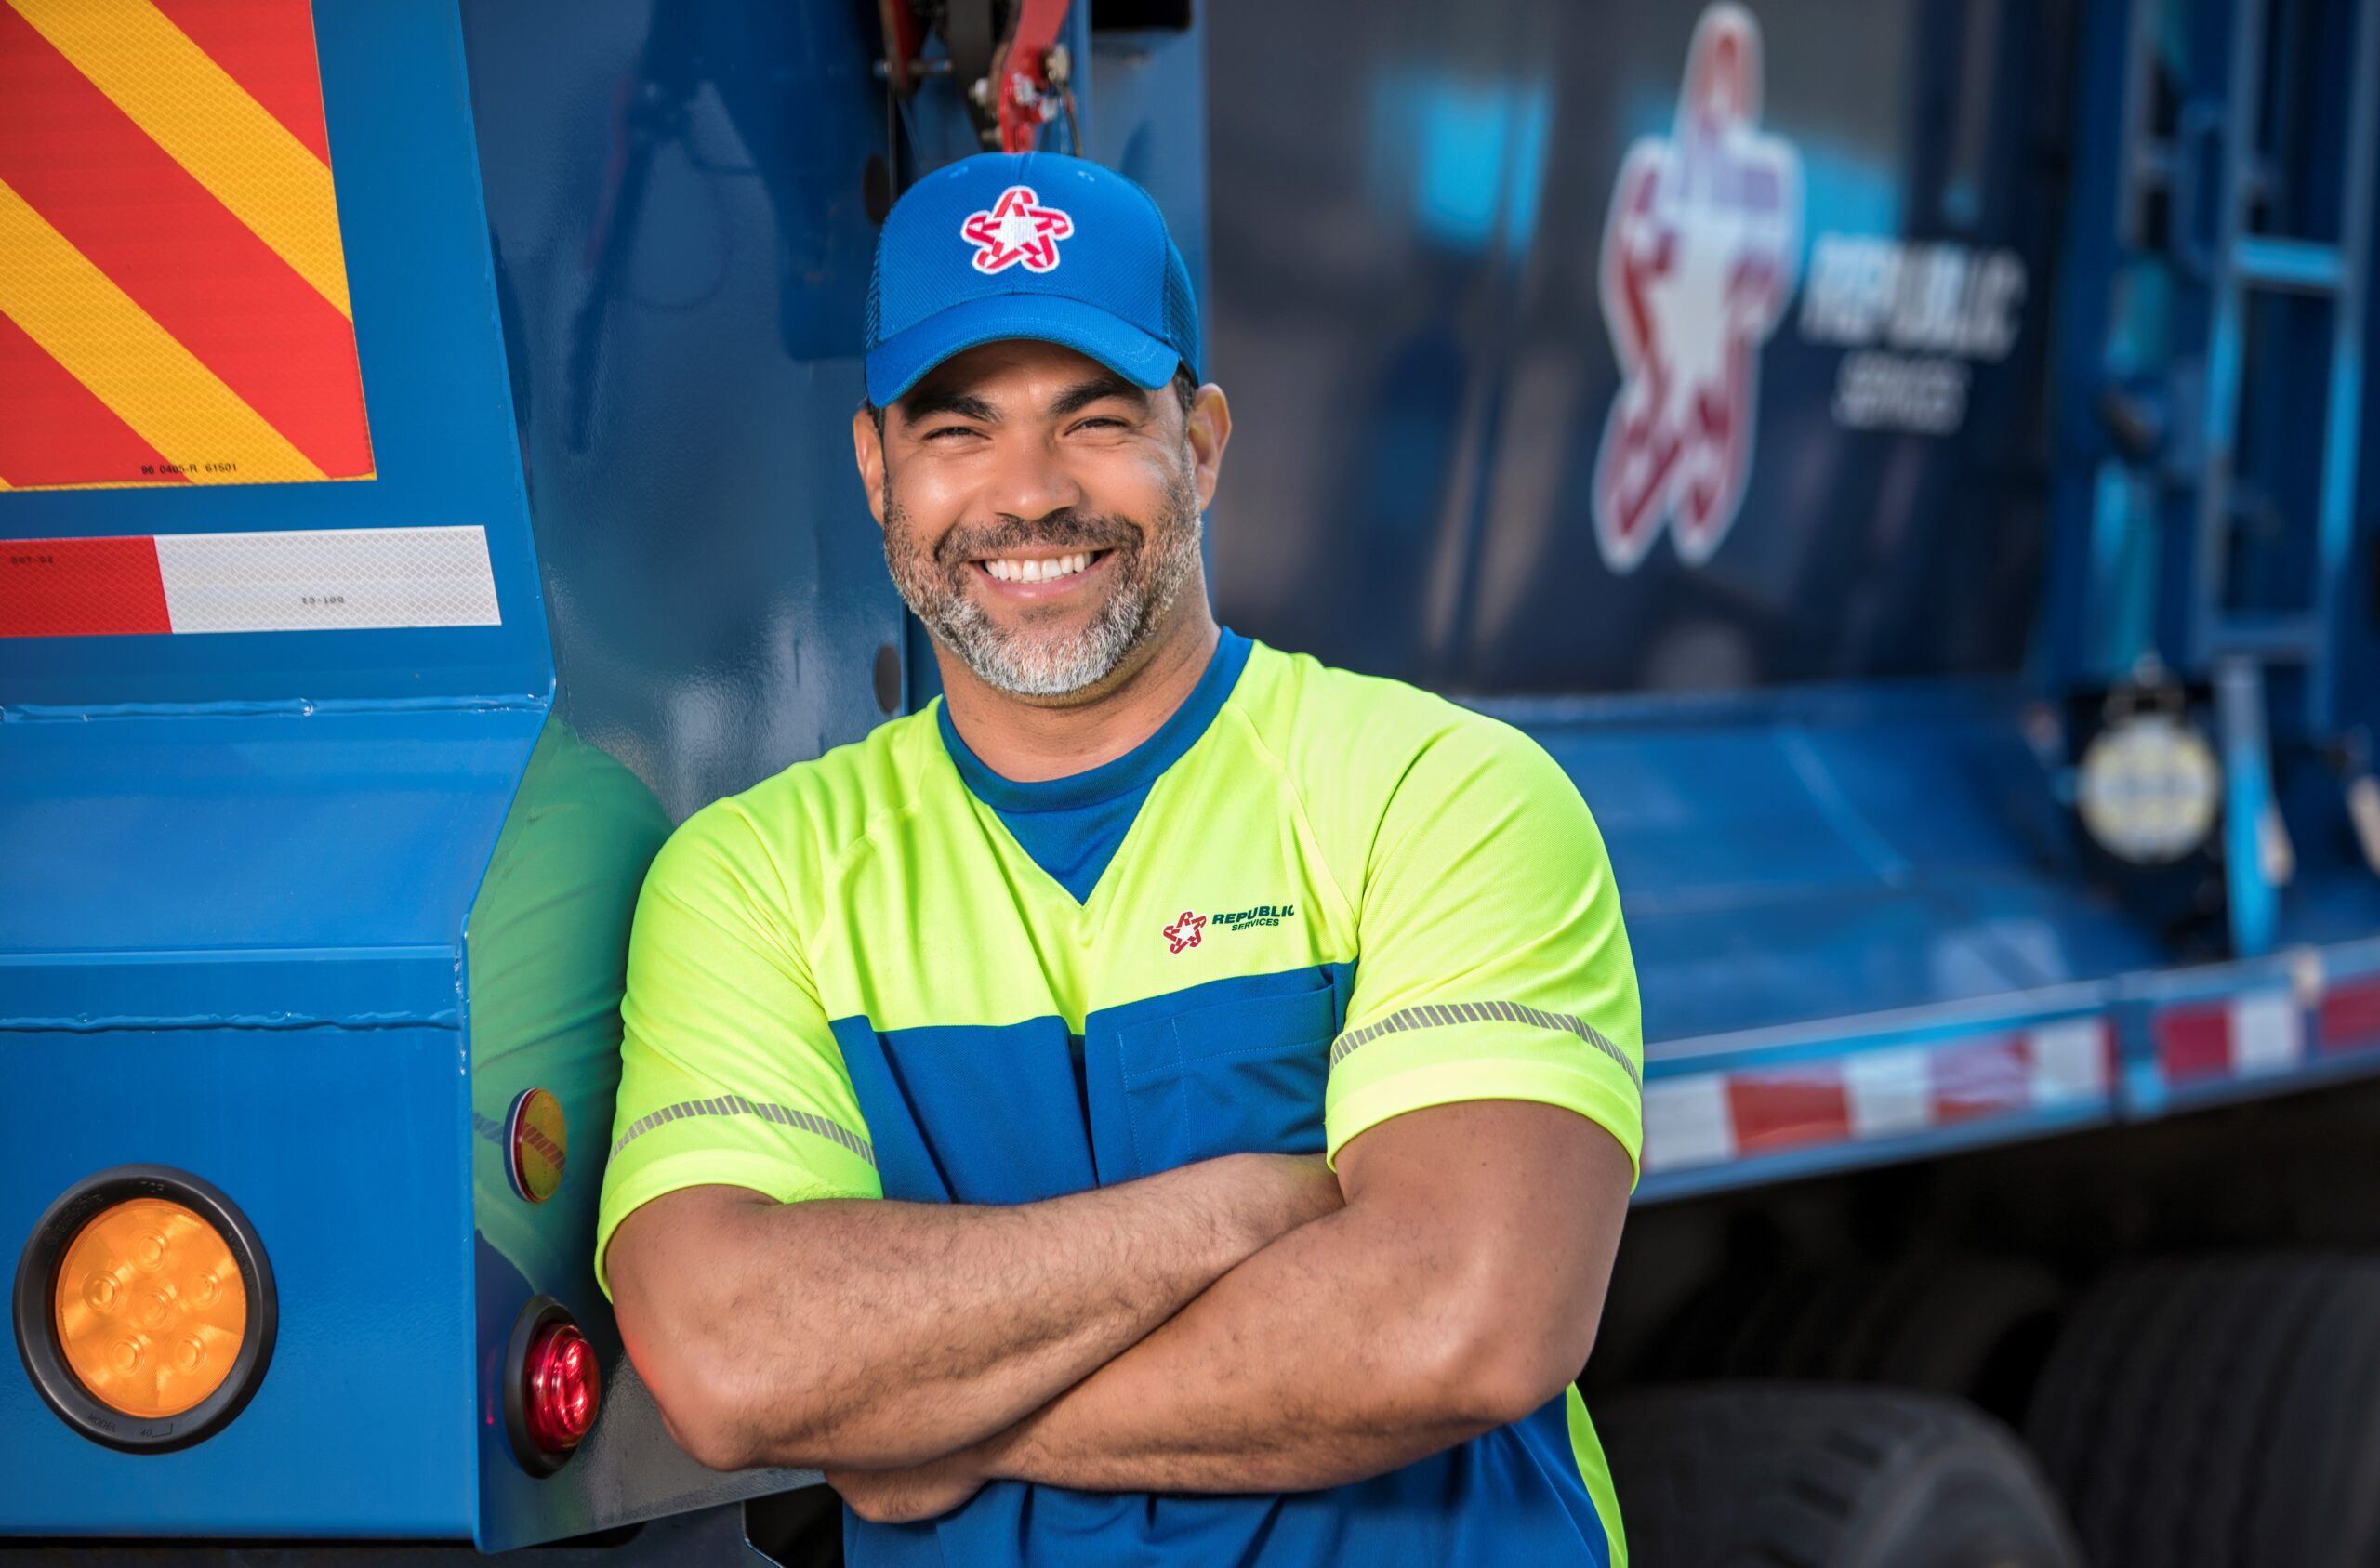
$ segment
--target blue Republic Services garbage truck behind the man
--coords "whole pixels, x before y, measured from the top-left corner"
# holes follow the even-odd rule
[[[2380,1549],[2380,0],[0,0],[0,1535],[835,1561],[593,1278],[647,861],[935,695],[876,226],[1140,181],[1221,619],[1533,735],[1649,1566]]]

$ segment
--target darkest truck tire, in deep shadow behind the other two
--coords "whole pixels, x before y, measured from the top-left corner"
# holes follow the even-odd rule
[[[1937,1256],[1797,1268],[1711,1290],[1652,1356],[1661,1380],[1883,1382],[2025,1418],[2066,1290],[2028,1259]]]

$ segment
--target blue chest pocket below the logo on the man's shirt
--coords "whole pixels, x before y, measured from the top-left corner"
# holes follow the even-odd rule
[[[1271,990],[1290,983],[1297,990]],[[1219,1154],[1321,1154],[1338,987],[1321,971],[1219,985],[1219,999],[1116,1028],[1128,1171],[1100,1149],[1102,1180]],[[1111,1173],[1114,1171],[1114,1173]]]

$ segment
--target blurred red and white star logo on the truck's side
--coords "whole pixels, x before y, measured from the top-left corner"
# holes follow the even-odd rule
[[[1628,148],[1602,302],[1623,385],[1595,457],[1595,542],[1635,571],[1664,523],[1711,559],[1752,471],[1759,350],[1795,290],[1802,159],[1759,128],[1761,29],[1733,0],[1695,24],[1671,136]]]

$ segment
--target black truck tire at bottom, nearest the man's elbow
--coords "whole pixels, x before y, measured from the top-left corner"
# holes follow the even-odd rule
[[[2016,1437],[1956,1399],[1737,1382],[1595,1409],[1640,1568],[2080,1568]]]

